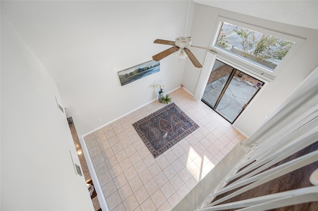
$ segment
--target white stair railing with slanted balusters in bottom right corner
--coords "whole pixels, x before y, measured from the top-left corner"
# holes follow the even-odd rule
[[[242,211],[257,211],[318,201],[318,186],[311,186],[218,205],[275,178],[317,162],[318,150],[269,168],[315,144],[318,141],[317,125],[318,105],[316,104],[261,144],[255,144],[196,210],[218,211],[241,208]],[[230,181],[234,182],[227,186]],[[215,200],[217,196],[234,190],[236,191]]]

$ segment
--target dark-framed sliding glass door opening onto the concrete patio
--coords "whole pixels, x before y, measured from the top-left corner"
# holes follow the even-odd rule
[[[264,82],[216,60],[202,101],[233,123]]]

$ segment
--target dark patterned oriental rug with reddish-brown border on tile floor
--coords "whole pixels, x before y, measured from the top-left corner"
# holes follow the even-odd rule
[[[178,106],[168,106],[133,124],[154,158],[199,128]]]

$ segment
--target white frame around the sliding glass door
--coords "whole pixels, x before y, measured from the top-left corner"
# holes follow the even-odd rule
[[[236,119],[233,121],[233,125],[235,124],[235,122],[237,122],[237,120],[244,114],[245,110],[247,110],[247,108],[253,103],[253,101],[257,98],[257,96],[265,89],[265,87],[270,83],[270,80],[267,79],[266,76],[259,74],[255,71],[253,71],[252,69],[249,69],[246,66],[243,66],[241,64],[238,64],[237,62],[235,62],[234,60],[231,60],[229,58],[226,58],[222,55],[218,55],[215,52],[212,51],[208,51],[206,56],[205,56],[205,60],[203,63],[203,67],[202,67],[202,71],[200,74],[200,78],[197,84],[197,88],[195,90],[195,94],[194,94],[194,99],[197,101],[201,101],[202,96],[204,94],[204,90],[207,86],[210,74],[212,72],[212,68],[213,65],[215,63],[215,60],[218,59],[219,61],[222,61],[223,63],[226,63],[230,66],[232,66],[233,68],[247,74],[250,75],[252,77],[254,77],[257,80],[263,81],[264,84],[262,86],[262,88],[260,90],[258,90],[255,95],[253,95],[252,99],[248,102],[247,106],[239,113],[239,115],[236,117]]]

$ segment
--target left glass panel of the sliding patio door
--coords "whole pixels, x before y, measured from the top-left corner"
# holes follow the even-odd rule
[[[214,108],[232,70],[233,67],[219,60],[215,60],[207,86],[202,96],[202,101],[204,103]]]

